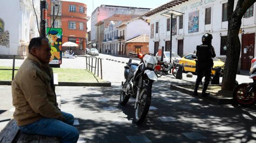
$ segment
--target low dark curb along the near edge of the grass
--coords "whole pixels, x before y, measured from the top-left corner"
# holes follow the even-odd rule
[[[12,85],[12,81],[0,81],[0,85]],[[103,83],[80,83],[80,82],[59,82],[57,86],[103,86],[111,87],[111,82]]]

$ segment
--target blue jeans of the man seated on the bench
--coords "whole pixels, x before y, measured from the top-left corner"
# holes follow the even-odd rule
[[[79,138],[79,131],[73,126],[74,116],[62,111],[61,114],[65,117],[65,121],[44,117],[19,128],[27,134],[60,137],[61,143],[76,143]]]

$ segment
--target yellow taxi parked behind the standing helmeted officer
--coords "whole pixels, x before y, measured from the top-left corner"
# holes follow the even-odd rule
[[[195,59],[197,59],[195,53],[188,54],[180,59],[179,64],[184,66],[184,71],[195,72]],[[223,69],[225,65],[225,63],[218,58],[213,58],[213,63],[212,74],[215,74],[216,67],[221,67]]]

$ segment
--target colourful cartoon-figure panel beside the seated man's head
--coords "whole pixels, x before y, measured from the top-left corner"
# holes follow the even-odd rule
[[[51,62],[49,64],[61,64],[62,58],[62,29],[61,28],[47,28],[47,40],[51,45]]]

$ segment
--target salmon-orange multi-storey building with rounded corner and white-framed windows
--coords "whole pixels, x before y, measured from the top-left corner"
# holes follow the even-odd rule
[[[74,54],[83,55],[86,48],[87,5],[80,2],[60,0],[60,3],[55,3],[55,1],[47,0],[47,27],[51,27],[53,16],[57,15],[54,27],[62,28],[62,43],[67,41],[77,43],[79,41],[79,46],[71,47],[71,49]],[[69,47],[62,47],[62,51],[67,49]]]

